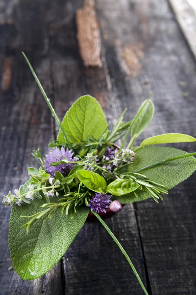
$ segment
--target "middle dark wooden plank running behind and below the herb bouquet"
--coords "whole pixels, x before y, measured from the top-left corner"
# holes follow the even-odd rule
[[[81,7],[82,2],[69,2],[69,6],[66,2],[60,5],[59,0],[53,2],[53,27],[58,27],[58,22],[63,23],[64,18],[67,20],[56,32],[50,31],[55,109],[59,117],[63,118],[73,101],[88,93],[98,99],[113,124],[123,108],[116,99],[115,91],[111,91],[104,49],[104,65],[101,69],[85,68],[79,56],[75,11]],[[107,224],[133,258],[133,263],[146,284],[145,264],[133,206],[124,207],[121,213],[107,220]],[[97,223],[85,224],[65,254],[63,262],[66,294],[143,294],[120,250],[105,229]]]

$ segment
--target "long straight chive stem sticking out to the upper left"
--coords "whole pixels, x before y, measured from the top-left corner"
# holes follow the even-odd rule
[[[40,90],[41,90],[41,92],[42,92],[42,94],[43,94],[43,96],[44,96],[44,98],[45,98],[47,104],[48,104],[48,106],[49,106],[49,109],[50,109],[50,111],[51,111],[51,113],[52,113],[52,116],[55,118],[55,121],[56,121],[57,125],[59,126],[59,129],[60,129],[61,132],[63,133],[63,136],[64,136],[64,138],[65,138],[65,140],[66,140],[66,142],[67,142],[68,147],[69,147],[70,149],[73,149],[73,148],[72,148],[72,145],[71,145],[71,143],[70,143],[70,141],[69,141],[69,139],[68,139],[68,137],[67,137],[67,135],[66,135],[66,133],[65,133],[65,131],[64,131],[62,125],[61,125],[61,123],[60,123],[60,121],[59,121],[59,118],[57,117],[57,115],[56,115],[56,113],[55,113],[55,111],[54,111],[54,109],[53,109],[53,107],[52,107],[52,105],[51,105],[51,103],[50,103],[50,101],[49,101],[49,98],[48,98],[46,92],[44,91],[44,89],[43,89],[43,87],[42,87],[42,85],[41,85],[41,83],[40,83],[40,81],[39,81],[37,75],[35,74],[35,71],[34,71],[32,65],[30,64],[30,61],[27,59],[27,57],[26,57],[26,55],[25,55],[24,52],[22,52],[22,54],[24,55],[24,57],[25,57],[25,59],[26,59],[28,65],[29,65],[29,68],[30,68],[30,70],[31,70],[31,72],[32,72],[32,74],[33,74],[33,76],[34,76],[34,78],[35,78],[35,80],[36,80],[36,82],[37,82],[37,84],[38,84],[38,86],[39,86],[39,88],[40,88]]]

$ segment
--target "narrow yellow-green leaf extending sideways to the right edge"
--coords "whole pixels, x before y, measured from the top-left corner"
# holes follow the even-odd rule
[[[172,144],[172,143],[190,143],[196,142],[196,139],[190,135],[181,133],[166,133],[157,136],[152,136],[145,139],[141,143],[141,147],[150,145],[160,145],[160,144]]]

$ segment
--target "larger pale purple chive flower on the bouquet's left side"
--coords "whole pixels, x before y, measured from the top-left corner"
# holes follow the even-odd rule
[[[68,161],[77,161],[76,158],[73,158],[73,152],[72,150],[64,147],[61,149],[55,147],[54,149],[51,149],[49,153],[46,155],[46,161],[45,161],[45,167],[47,168],[46,171],[53,177],[55,171],[61,172],[63,175],[67,171],[72,170],[74,164],[60,164],[59,166],[50,166],[49,164],[51,162],[58,162],[59,160],[63,160],[63,156],[65,157],[66,160]]]

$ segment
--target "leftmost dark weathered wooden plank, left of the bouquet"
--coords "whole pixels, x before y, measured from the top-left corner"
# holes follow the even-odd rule
[[[40,147],[46,153],[48,142],[53,136],[48,106],[21,54],[22,50],[26,52],[44,88],[50,93],[50,64],[48,57],[43,55],[47,42],[47,35],[44,36],[47,19],[43,18],[43,3],[26,0],[17,2],[12,11],[17,34],[13,35],[8,25],[0,27],[1,196],[25,182],[27,167],[35,165],[31,151]],[[43,30],[38,34],[40,27]],[[8,250],[9,214],[10,210],[0,204],[0,295],[62,294],[61,263],[34,281],[23,281],[14,270],[8,270],[12,266]]]

